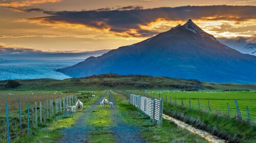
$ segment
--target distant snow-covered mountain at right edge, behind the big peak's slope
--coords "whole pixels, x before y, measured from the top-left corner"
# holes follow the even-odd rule
[[[223,44],[229,46],[232,49],[235,49],[237,51],[240,51],[241,53],[247,53],[251,55],[256,56],[256,43],[247,42],[246,38],[240,37],[239,39],[229,39],[229,40],[223,40],[219,39]],[[255,41],[255,39],[253,39]]]

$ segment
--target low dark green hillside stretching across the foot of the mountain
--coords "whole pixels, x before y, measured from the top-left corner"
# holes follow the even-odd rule
[[[27,79],[17,80],[22,85],[15,89],[7,89],[4,84],[7,80],[0,81],[0,90],[227,90],[242,89],[255,90],[256,84],[210,83],[195,79],[178,79],[169,77],[154,77],[148,75],[117,75],[101,74],[83,78],[56,79]]]

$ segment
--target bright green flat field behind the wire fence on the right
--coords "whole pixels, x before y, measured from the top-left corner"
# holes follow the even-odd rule
[[[223,92],[223,91],[193,91],[193,92],[181,92],[181,91],[146,91],[150,95],[155,97],[160,96],[167,97],[167,101],[175,103],[175,97],[177,99],[177,105],[181,105],[181,98],[183,99],[184,106],[189,107],[189,98],[191,101],[191,108],[199,108],[198,99],[200,100],[200,108],[202,110],[209,111],[208,100],[210,104],[211,112],[220,112],[227,114],[227,103],[229,104],[229,113],[234,116],[237,115],[236,105],[234,99],[237,99],[239,109],[241,110],[243,119],[247,119],[246,106],[249,108],[251,120],[256,121],[256,92],[249,91],[236,91],[236,92]]]

